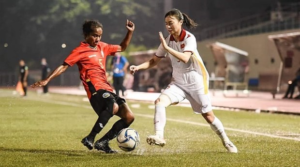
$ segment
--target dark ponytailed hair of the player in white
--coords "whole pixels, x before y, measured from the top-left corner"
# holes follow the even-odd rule
[[[169,12],[167,12],[165,14],[165,17],[169,16],[169,15],[173,15],[177,18],[178,21],[183,20],[183,25],[185,25],[185,27],[187,27],[189,30],[191,29],[195,29],[198,24],[195,23],[194,20],[192,20],[188,15],[186,15],[185,13],[181,13],[180,10],[178,9],[171,9]]]

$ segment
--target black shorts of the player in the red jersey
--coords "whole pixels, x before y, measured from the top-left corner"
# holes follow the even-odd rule
[[[98,115],[107,108],[107,103],[117,103],[120,106],[126,103],[126,101],[114,92],[104,89],[96,91],[96,93],[93,93],[90,97],[90,105]]]

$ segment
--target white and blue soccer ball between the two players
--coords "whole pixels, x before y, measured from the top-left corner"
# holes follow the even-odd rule
[[[133,151],[139,144],[139,135],[132,128],[122,129],[117,136],[117,143],[121,150]]]

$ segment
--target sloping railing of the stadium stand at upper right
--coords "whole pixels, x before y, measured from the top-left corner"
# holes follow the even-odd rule
[[[300,2],[263,14],[251,15],[195,33],[197,40],[227,38],[299,28]]]

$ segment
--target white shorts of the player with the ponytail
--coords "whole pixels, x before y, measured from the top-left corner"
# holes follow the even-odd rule
[[[176,105],[186,98],[191,103],[196,114],[203,114],[212,110],[209,94],[199,94],[197,91],[184,91],[174,84],[169,84],[162,94],[170,98],[172,105]]]

